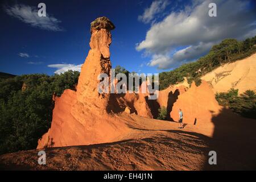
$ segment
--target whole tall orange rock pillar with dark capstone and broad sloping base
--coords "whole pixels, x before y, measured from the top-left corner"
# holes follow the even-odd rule
[[[100,94],[97,89],[98,75],[110,75],[113,28],[106,17],[92,22],[90,50],[82,65],[77,91],[67,89],[61,97],[54,97],[51,128],[39,139],[38,148],[112,142],[130,130],[111,115],[110,94]]]

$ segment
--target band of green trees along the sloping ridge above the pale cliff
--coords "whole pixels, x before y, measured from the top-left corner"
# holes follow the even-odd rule
[[[181,65],[179,68],[169,72],[159,73],[159,89],[166,89],[169,85],[188,78],[189,84],[194,80],[196,85],[200,84],[200,77],[212,71],[222,64],[243,59],[256,52],[256,36],[243,41],[236,39],[225,39],[210,49],[208,55],[199,60]]]

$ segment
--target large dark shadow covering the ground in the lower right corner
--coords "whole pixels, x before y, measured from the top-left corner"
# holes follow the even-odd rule
[[[217,152],[217,165],[209,165],[207,156],[204,170],[255,170],[255,119],[242,118],[225,108],[217,115],[212,114],[214,133],[209,151]]]

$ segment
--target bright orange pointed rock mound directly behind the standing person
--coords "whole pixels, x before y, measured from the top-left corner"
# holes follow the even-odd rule
[[[179,109],[181,109],[184,123],[208,125],[211,122],[212,115],[218,114],[221,108],[215,99],[214,92],[210,89],[208,83],[203,80],[200,86],[196,86],[193,82],[187,92],[177,96],[170,117],[174,121],[178,121]]]

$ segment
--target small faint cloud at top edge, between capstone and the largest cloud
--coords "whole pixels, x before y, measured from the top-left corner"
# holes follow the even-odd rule
[[[150,23],[155,18],[156,14],[161,13],[169,4],[166,0],[157,0],[152,2],[151,6],[144,10],[143,15],[138,16],[138,20],[143,23]]]

